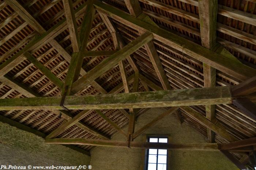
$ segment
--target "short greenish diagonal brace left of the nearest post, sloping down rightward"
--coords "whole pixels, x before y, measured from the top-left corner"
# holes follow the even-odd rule
[[[35,65],[49,80],[53,82],[57,87],[60,89],[63,86],[63,82],[59,78],[57,78],[56,75],[54,75],[48,68],[44,66],[41,62],[39,62],[36,58],[34,58],[33,55],[31,55],[29,52],[25,52],[23,54],[31,63]]]

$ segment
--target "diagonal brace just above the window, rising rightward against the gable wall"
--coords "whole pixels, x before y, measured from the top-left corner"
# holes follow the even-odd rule
[[[136,131],[135,133],[133,133],[132,138],[135,139],[137,138],[140,134],[142,134],[144,131],[146,131],[148,128],[154,126],[154,124],[156,124],[157,122],[159,122],[160,120],[162,120],[164,117],[166,117],[167,115],[172,114],[173,112],[177,111],[178,107],[172,107],[168,110],[166,110],[165,112],[163,112],[161,115],[157,116],[156,118],[154,118],[153,120],[151,120],[151,122],[147,123],[145,126],[143,126],[142,128],[140,128],[138,131]]]

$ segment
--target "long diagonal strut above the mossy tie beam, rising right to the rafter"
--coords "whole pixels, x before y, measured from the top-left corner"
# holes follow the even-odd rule
[[[84,87],[88,86],[92,80],[95,80],[101,76],[104,72],[111,69],[115,64],[125,59],[128,55],[132,54],[152,39],[153,35],[150,32],[146,32],[139,36],[131,43],[127,44],[124,48],[116,52],[114,55],[104,59],[97,66],[92,68],[86,75],[74,82],[71,91],[76,94],[80,90],[84,89]]]

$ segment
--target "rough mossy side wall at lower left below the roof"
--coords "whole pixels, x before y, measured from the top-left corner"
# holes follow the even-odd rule
[[[0,122],[0,165],[77,166],[89,165],[90,157],[62,145]]]

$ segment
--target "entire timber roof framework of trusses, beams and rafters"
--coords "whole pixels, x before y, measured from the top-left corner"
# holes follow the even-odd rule
[[[59,0],[52,1],[52,3],[47,4],[34,15],[31,15],[26,9],[34,4],[32,1],[28,1],[24,5],[21,5],[16,0],[1,1],[0,10],[3,10],[8,5],[15,11],[4,22],[1,22],[1,28],[4,28],[9,21],[17,16],[20,16],[25,22],[5,36],[4,39],[0,40],[0,44],[4,44],[6,40],[16,35],[26,25],[29,25],[34,30],[20,42],[20,46],[14,47],[13,50],[1,57],[0,81],[2,84],[0,86],[2,88],[6,84],[13,89],[1,96],[0,110],[7,111],[0,116],[1,121],[44,137],[46,138],[46,143],[72,144],[80,148],[82,146],[85,150],[89,150],[93,146],[220,150],[240,169],[245,169],[245,165],[248,163],[256,166],[255,159],[253,159],[253,155],[254,157],[256,156],[256,139],[241,140],[243,138],[228,128],[229,125],[225,124],[225,119],[219,118],[220,110],[231,112],[230,110],[233,109],[234,111],[234,108],[230,105],[233,104],[232,106],[236,106],[242,111],[243,116],[253,121],[253,123],[256,122],[256,69],[255,67],[249,67],[252,64],[247,63],[245,65],[246,62],[244,61],[242,63],[241,59],[238,60],[223,46],[237,50],[252,59],[256,59],[255,51],[221,39],[216,34],[217,31],[226,33],[255,45],[255,35],[219,23],[217,22],[217,16],[223,15],[231,19],[242,20],[253,26],[256,26],[256,17],[248,12],[235,10],[225,5],[218,5],[217,0],[180,1],[194,5],[199,9],[199,15],[155,0],[89,0],[84,3],[81,3],[79,0],[74,3],[71,0],[63,0],[64,10],[60,11],[56,16],[60,17],[65,13],[65,17],[47,28],[45,25],[42,26],[36,17],[52,8],[55,4],[58,4]],[[253,0],[251,2],[255,3]],[[114,5],[109,5],[114,3],[119,5],[117,5],[119,9],[114,7]],[[154,8],[159,8],[195,23],[200,23],[200,30],[181,21],[161,16],[154,12],[154,10],[142,8],[143,5],[140,3],[151,5]],[[102,22],[95,24],[95,17],[101,19]],[[83,18],[82,21],[80,21],[81,18]],[[200,37],[201,44],[193,42],[195,40],[188,40],[188,37],[179,33],[176,34],[168,31],[153,20],[161,20],[167,24],[174,25],[178,29],[192,33]],[[46,23],[50,22],[54,23],[51,20]],[[107,32],[109,32],[109,35],[98,46],[91,48],[90,44],[97,41],[98,35],[91,37],[90,34],[92,30],[99,29],[102,25],[105,25],[107,29],[98,32],[99,37]],[[57,40],[59,35],[63,34],[67,29],[69,35],[61,41]],[[112,39],[113,46],[110,44],[105,49],[93,50],[100,47],[101,43],[104,44],[108,38]],[[68,39],[70,39],[71,44],[64,48],[61,43]],[[27,43],[28,41],[29,43]],[[40,55],[36,53],[38,50],[42,50],[43,47],[45,48],[45,46],[54,48],[57,54],[61,55],[64,60],[60,61],[59,64],[55,64],[55,67],[52,68],[47,66],[47,64],[53,62],[54,58],[42,63],[41,60],[47,55],[47,51],[42,52]],[[69,48],[71,47],[72,50],[70,51]],[[21,50],[16,52],[20,48]],[[88,50],[89,48],[91,50]],[[189,64],[186,64],[182,59],[175,59],[174,62],[166,60],[166,57],[170,56],[170,53],[167,51],[170,51],[172,55],[186,58],[186,62],[189,61]],[[9,57],[14,52],[16,53]],[[99,62],[97,58],[100,56],[105,56],[105,58]],[[141,59],[138,59],[137,56],[140,56]],[[88,63],[83,66],[83,61],[86,58],[88,58]],[[149,76],[145,70],[147,62],[146,64],[138,62],[142,59],[151,63],[148,69],[154,72],[152,79],[148,78]],[[90,66],[90,63],[92,64],[96,61],[97,64],[91,67],[91,69],[87,69],[86,66]],[[10,76],[9,73],[17,69],[16,67],[24,62],[30,63],[23,67],[20,73],[15,72],[14,75]],[[68,63],[69,66],[62,72],[58,74],[54,72],[58,67]],[[182,74],[178,75],[179,71],[173,73],[174,70],[171,69],[172,67],[177,68],[177,64],[182,64],[183,66],[178,68],[178,70],[186,72],[191,78],[189,76],[184,78]],[[202,66],[203,72],[200,72],[195,67],[196,64]],[[167,65],[170,65],[170,67]],[[42,75],[39,80],[27,87],[24,82],[26,82],[25,79],[29,80],[29,77],[25,78],[23,82],[17,81],[16,78],[32,66],[38,69],[34,74],[41,73]],[[99,80],[97,79],[117,66],[120,71],[121,83],[118,85],[114,84],[114,88],[111,90],[106,90],[106,88],[98,83]],[[64,78],[63,75],[65,75]],[[170,75],[174,75],[177,79],[173,79],[173,76]],[[224,79],[230,80],[230,82],[235,82],[233,85],[237,85],[230,86],[230,84],[221,82],[217,79],[220,75]],[[203,76],[203,79],[200,76]],[[44,87],[52,84],[53,88],[42,95],[41,92],[34,91],[32,87],[44,78],[49,80]],[[156,82],[156,79],[160,83]],[[189,84],[188,82],[192,83]],[[133,83],[132,86],[130,85],[131,83]],[[221,85],[221,87],[216,86],[216,84]],[[185,89],[180,89],[180,86],[185,87]],[[90,88],[95,88],[97,92],[86,91]],[[20,94],[4,99],[14,91],[18,91]],[[54,91],[57,91],[57,93],[55,92],[54,95],[49,96]],[[120,93],[122,91],[124,93]],[[203,114],[202,106],[205,106]],[[135,132],[136,116],[145,111],[145,109],[139,110],[139,108],[151,107],[167,107],[167,110]],[[129,113],[125,110],[127,108]],[[23,116],[18,123],[6,117],[16,110],[19,112],[14,114],[11,119],[18,118],[26,111],[34,111]],[[38,110],[41,110],[40,114],[27,120],[31,115],[37,113]],[[111,114],[118,115],[120,119],[114,120],[110,117],[111,114],[107,116],[106,112],[108,110],[116,110],[117,114]],[[87,116],[90,117],[91,113],[100,116],[115,131],[124,135],[127,138],[127,142],[110,141],[109,135],[84,123],[83,119]],[[168,143],[166,145],[159,145],[157,143],[133,141],[133,139],[149,127],[172,113],[176,114],[181,123],[186,121],[194,127],[199,126],[197,124],[206,127],[209,143]],[[24,125],[25,121],[25,124],[30,124],[44,114],[45,119],[50,118],[50,120],[57,121],[45,130],[47,132],[55,127],[47,135],[38,130],[46,127],[50,121],[47,123],[42,119],[33,124],[32,128]],[[122,123],[120,124],[118,120]],[[126,123],[128,123],[128,133],[121,129]],[[38,127],[38,130],[33,129],[39,126],[39,124],[42,126]],[[256,128],[256,126],[253,128]],[[200,131],[200,128],[197,130]],[[69,147],[74,148],[72,145]],[[90,146],[84,148],[83,145]],[[88,154],[83,149],[78,150]]]

